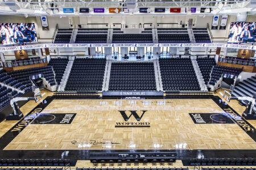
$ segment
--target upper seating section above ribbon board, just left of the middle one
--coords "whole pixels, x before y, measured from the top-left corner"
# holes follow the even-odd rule
[[[80,28],[76,35],[75,43],[106,43],[108,29],[104,28]]]

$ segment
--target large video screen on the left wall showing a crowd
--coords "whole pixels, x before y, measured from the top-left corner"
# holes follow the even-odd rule
[[[0,23],[1,44],[24,44],[38,42],[34,23]]]

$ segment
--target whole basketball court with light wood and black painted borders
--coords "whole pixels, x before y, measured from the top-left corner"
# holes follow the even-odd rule
[[[5,135],[3,150],[255,149],[255,127],[217,96],[47,97]]]

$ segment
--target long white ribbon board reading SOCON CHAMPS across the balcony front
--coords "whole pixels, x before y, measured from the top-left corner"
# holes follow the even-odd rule
[[[81,47],[221,47],[221,48],[234,48],[234,49],[249,49],[256,50],[255,45],[241,45],[241,44],[224,44],[224,43],[146,43],[146,44],[134,44],[134,43],[126,43],[126,44],[35,44],[35,45],[20,45],[20,46],[6,46],[0,47],[0,51],[15,51],[15,50],[27,50],[27,49],[43,49],[43,48],[81,48]]]

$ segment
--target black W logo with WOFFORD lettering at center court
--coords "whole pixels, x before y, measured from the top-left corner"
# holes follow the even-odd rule
[[[142,122],[142,117],[147,111],[118,111],[125,122],[116,122],[115,128],[150,128],[150,122]],[[137,122],[130,122],[135,118]]]

